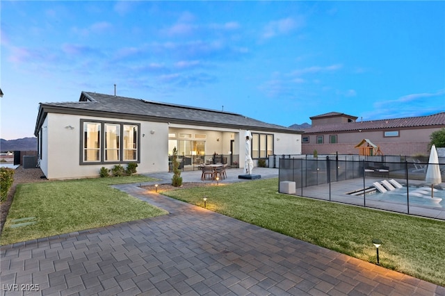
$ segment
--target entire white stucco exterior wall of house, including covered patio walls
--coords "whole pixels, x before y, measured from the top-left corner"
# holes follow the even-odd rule
[[[137,172],[140,174],[168,172],[168,133],[171,132],[206,134],[207,155],[214,152],[228,155],[231,141],[234,140],[233,153],[239,155],[240,167],[244,166],[245,130],[48,113],[42,125],[42,161],[40,163],[40,167],[48,179],[97,177],[101,167],[111,169],[115,165],[115,163],[81,163],[81,154],[83,153],[81,120],[140,124],[138,131],[140,135],[140,162],[137,167]],[[252,133],[266,132],[257,130]],[[274,149],[275,154],[300,154],[301,135],[275,133]],[[126,164],[122,164],[122,166],[127,167]]]

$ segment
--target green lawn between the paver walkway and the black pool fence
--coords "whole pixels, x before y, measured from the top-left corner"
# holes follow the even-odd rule
[[[445,222],[277,193],[278,179],[162,192],[250,224],[445,286]]]

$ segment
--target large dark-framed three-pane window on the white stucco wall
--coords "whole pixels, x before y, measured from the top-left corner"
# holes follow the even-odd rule
[[[139,126],[81,120],[81,164],[138,161]]]

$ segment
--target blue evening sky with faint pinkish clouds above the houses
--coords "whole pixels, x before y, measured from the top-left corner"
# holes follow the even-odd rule
[[[445,110],[444,1],[1,1],[1,138],[81,91],[290,126]],[[224,106],[224,107],[223,107]]]

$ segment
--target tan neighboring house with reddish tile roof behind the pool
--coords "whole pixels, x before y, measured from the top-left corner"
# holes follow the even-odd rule
[[[384,155],[428,156],[433,131],[445,127],[445,112],[428,116],[357,122],[357,117],[331,112],[310,117],[304,129],[302,154],[359,154],[357,146],[369,139]]]

